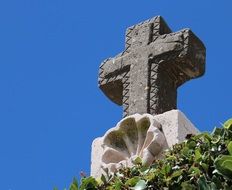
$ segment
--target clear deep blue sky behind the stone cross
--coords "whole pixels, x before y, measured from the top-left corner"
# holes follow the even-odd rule
[[[207,47],[206,74],[179,89],[178,108],[202,131],[231,117],[231,10],[229,0],[0,1],[0,189],[63,189],[89,173],[92,140],[122,115],[98,89],[99,64],[156,15]]]

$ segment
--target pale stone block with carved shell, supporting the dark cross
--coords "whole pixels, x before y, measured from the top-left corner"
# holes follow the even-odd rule
[[[107,169],[114,172],[122,165],[131,166],[137,156],[150,165],[161,158],[163,150],[198,132],[179,110],[128,116],[93,141],[91,175],[99,177]]]

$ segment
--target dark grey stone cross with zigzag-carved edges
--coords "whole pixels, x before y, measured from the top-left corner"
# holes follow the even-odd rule
[[[177,88],[204,71],[200,39],[190,29],[172,32],[157,16],[127,29],[125,51],[101,64],[98,80],[124,117],[156,115],[176,109]]]

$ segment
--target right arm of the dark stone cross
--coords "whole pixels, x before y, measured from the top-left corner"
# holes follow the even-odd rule
[[[158,59],[178,70],[177,86],[205,72],[205,46],[190,29],[161,35],[146,48],[150,60]]]

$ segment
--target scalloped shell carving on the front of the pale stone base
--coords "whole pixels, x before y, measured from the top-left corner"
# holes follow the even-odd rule
[[[135,114],[121,120],[107,131],[102,146],[101,167],[109,172],[132,166],[137,157],[144,165],[151,165],[168,147],[161,125],[149,114]]]

